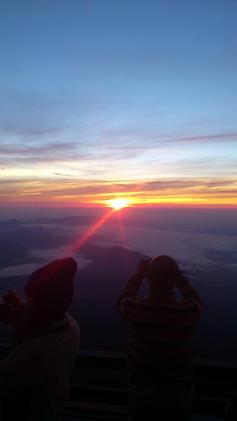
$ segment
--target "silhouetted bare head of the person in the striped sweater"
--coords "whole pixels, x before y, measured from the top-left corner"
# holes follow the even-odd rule
[[[172,293],[178,278],[179,265],[170,256],[154,257],[148,266],[147,279],[152,294]]]

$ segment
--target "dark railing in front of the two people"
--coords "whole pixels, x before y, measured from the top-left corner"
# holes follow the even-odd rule
[[[0,344],[0,348],[6,345]],[[87,371],[93,373],[93,379],[88,380]],[[120,376],[119,382],[116,379],[117,373]],[[63,421],[127,420],[126,377],[125,353],[81,349],[76,357],[73,382],[70,379],[69,402]],[[122,384],[121,378],[124,379]],[[227,404],[237,387],[236,382],[237,363],[195,359],[194,412],[223,417],[224,420]]]

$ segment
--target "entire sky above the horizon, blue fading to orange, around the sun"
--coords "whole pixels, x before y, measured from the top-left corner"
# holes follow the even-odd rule
[[[236,0],[1,1],[1,205],[237,207],[236,22]]]

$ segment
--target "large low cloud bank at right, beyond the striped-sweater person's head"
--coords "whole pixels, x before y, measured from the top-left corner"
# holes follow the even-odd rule
[[[167,254],[174,257],[183,270],[191,272],[196,272],[197,269],[212,271],[236,262],[237,236],[193,234],[139,227],[136,229],[124,227],[122,231],[117,227],[108,229],[103,227],[96,235],[92,238],[93,244],[107,247],[120,244],[128,250],[148,256]],[[225,257],[217,260],[217,254]]]

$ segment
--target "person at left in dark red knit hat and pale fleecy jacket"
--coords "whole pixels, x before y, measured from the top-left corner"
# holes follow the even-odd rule
[[[0,420],[60,420],[79,350],[79,325],[67,313],[76,271],[73,258],[55,260],[32,273],[26,301],[12,289],[2,297],[0,320],[16,345],[0,361]]]

